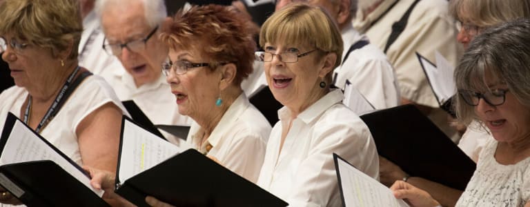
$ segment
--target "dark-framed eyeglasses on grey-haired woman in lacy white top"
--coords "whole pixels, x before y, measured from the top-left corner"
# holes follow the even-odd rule
[[[491,106],[499,106],[506,101],[506,93],[508,91],[508,89],[494,89],[480,93],[471,90],[458,90],[458,93],[460,94],[460,97],[464,99],[464,102],[470,106],[478,106],[478,101],[480,101],[480,99],[483,99]]]

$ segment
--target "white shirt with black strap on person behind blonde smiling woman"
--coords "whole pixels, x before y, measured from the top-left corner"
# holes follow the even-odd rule
[[[367,41],[368,38],[348,24],[342,30],[342,40],[344,41],[342,60],[344,60],[351,45],[360,40]],[[371,43],[353,50],[348,59],[335,68],[335,72],[337,72],[335,85],[338,88],[344,89],[348,79],[375,109],[391,108],[400,103],[400,91],[397,88],[394,70],[382,50]]]

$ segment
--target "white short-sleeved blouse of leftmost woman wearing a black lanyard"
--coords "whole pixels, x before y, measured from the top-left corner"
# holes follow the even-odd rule
[[[0,94],[0,131],[3,130],[8,112],[12,112],[17,117],[20,116],[26,97],[28,97],[28,91],[17,86]],[[97,75],[87,77],[40,134],[70,159],[83,165],[77,143],[77,126],[91,112],[106,103],[113,103],[124,112],[124,115],[128,115],[112,88],[103,78]]]

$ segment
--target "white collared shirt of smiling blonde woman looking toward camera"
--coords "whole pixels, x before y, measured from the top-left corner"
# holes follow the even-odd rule
[[[257,184],[290,206],[342,206],[333,152],[379,179],[379,158],[368,126],[332,90],[293,120],[282,151],[282,130],[291,111],[278,111]]]

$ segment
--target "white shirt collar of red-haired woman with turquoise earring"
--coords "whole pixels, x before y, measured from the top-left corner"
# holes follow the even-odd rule
[[[249,107],[251,106],[251,103],[246,98],[246,95],[244,92],[235,99],[235,101],[228,107],[228,110],[224,112],[223,117],[221,117],[221,120],[219,120],[219,123],[215,128],[213,128],[213,131],[210,133],[210,136],[204,143],[200,146],[199,152],[202,151],[202,149],[206,148],[208,144],[211,144],[213,147],[222,144],[223,141],[223,135],[226,133],[226,130],[231,130],[232,123],[239,119],[239,116]],[[192,146],[197,146],[197,143],[201,141],[202,139],[202,133],[200,126],[194,121],[192,128],[190,129],[190,132],[188,134],[188,140],[191,141]],[[200,135],[199,135],[200,134]]]

